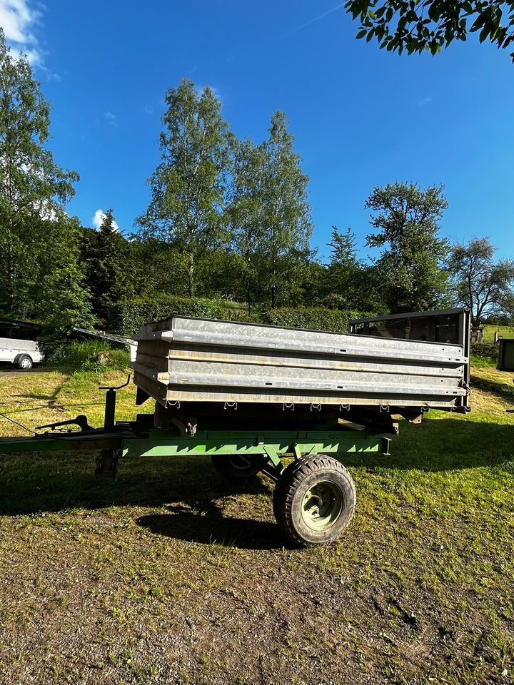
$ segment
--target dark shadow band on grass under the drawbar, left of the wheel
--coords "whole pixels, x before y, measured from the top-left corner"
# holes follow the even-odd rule
[[[271,482],[226,482],[202,457],[141,457],[122,460],[118,480],[96,480],[94,452],[0,457],[0,515],[107,507],[163,507],[212,512],[220,498],[271,496]]]

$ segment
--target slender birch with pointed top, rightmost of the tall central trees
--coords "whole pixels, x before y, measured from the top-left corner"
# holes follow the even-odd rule
[[[271,308],[276,307],[280,298],[295,298],[310,253],[308,177],[301,170],[301,157],[294,151],[293,143],[285,114],[276,112],[271,118],[269,137],[263,143],[266,166],[260,191],[260,274]]]

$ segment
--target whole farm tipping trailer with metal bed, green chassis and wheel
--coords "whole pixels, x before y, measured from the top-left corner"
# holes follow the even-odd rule
[[[96,450],[97,476],[116,476],[121,456],[210,456],[223,476],[276,481],[274,514],[293,543],[332,542],[356,504],[336,457],[388,455],[397,415],[418,423],[431,408],[470,410],[468,312],[402,318],[376,320],[377,335],[186,317],[148,324],[133,368],[136,404],[155,400],[153,414],[116,422],[118,388],[104,388],[104,427],[80,415],[0,440],[0,452]],[[425,340],[405,333],[413,320]],[[287,468],[283,457],[293,457]]]

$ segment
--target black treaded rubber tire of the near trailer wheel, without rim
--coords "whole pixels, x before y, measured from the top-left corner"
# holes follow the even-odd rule
[[[316,484],[330,483],[341,497],[336,519],[324,529],[313,529],[303,517],[303,499]],[[357,501],[356,487],[348,470],[333,457],[311,455],[290,464],[279,478],[273,494],[273,512],[283,534],[301,547],[333,542],[348,527]]]

